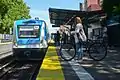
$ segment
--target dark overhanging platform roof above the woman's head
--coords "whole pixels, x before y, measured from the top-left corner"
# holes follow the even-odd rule
[[[102,10],[99,11],[79,11],[79,10],[66,10],[49,8],[49,17],[51,24],[59,25],[72,25],[76,16],[81,17],[82,20],[94,21],[96,17],[104,15]]]

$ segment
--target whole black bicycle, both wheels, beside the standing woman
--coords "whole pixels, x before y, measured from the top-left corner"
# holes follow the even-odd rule
[[[68,40],[69,41],[67,43],[62,43],[61,41],[59,50],[61,58],[65,61],[70,61],[76,56],[75,43],[73,40],[73,35],[71,35],[71,33]],[[89,54],[89,57],[95,61],[101,61],[107,55],[107,47],[103,44],[103,41],[99,42],[98,40],[87,39],[83,45],[85,51]]]

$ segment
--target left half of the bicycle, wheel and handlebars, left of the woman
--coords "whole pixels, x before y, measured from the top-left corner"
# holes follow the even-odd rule
[[[65,61],[70,61],[76,56],[74,36],[70,33],[67,38],[67,41],[65,41],[65,37],[62,37],[59,54]]]

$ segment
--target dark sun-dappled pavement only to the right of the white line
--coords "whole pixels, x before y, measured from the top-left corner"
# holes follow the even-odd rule
[[[95,80],[120,80],[120,48],[108,49],[106,58],[93,61],[88,55],[79,63]]]

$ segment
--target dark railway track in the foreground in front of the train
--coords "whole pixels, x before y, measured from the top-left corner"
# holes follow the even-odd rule
[[[0,80],[35,80],[41,62],[13,61],[0,69]]]

